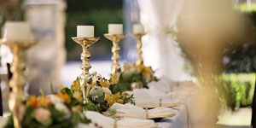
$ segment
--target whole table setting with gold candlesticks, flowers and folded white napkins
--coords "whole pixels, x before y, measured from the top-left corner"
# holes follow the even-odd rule
[[[12,91],[9,96],[10,116],[0,118],[0,128],[21,127],[189,127],[189,118],[183,99],[197,89],[194,82],[172,82],[157,78],[152,67],[143,64],[143,26],[135,24],[130,34],[137,38],[137,61],[131,66],[119,64],[119,41],[129,36],[123,33],[122,24],[109,24],[104,36],[113,43],[110,79],[96,72],[90,73],[90,45],[100,38],[94,37],[95,26],[77,26],[77,37],[72,37],[83,52],[81,71],[68,88],[52,90],[51,95],[25,95],[26,79],[23,61],[26,49],[37,45],[32,39],[26,22],[7,22],[1,44],[14,53],[9,82]],[[20,32],[23,30],[23,32]],[[26,30],[26,31],[24,31]],[[22,33],[22,34],[21,34]],[[172,120],[170,122],[170,120]],[[65,122],[65,123],[63,123]],[[167,125],[166,125],[167,124]]]

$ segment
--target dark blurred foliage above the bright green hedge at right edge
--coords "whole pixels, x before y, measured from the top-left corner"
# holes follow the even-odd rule
[[[228,61],[224,62],[225,73],[256,73],[256,4],[251,4],[247,8],[246,4],[241,4],[241,14],[247,17],[244,23],[246,32],[240,32],[244,35],[240,42],[232,42],[225,49],[229,51],[225,54]]]

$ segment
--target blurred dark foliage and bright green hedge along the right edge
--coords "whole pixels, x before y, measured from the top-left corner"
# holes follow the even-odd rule
[[[231,43],[223,58],[222,85],[229,96],[227,104],[233,109],[252,106],[256,81],[256,4],[248,8],[244,3],[236,8],[247,16],[249,32],[242,43]]]

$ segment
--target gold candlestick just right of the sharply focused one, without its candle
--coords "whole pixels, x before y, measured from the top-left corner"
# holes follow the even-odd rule
[[[119,64],[119,60],[121,58],[119,55],[119,51],[120,51],[119,41],[122,40],[123,38],[125,38],[126,35],[125,34],[109,34],[108,33],[108,34],[104,34],[104,36],[113,42],[113,47],[111,49],[111,51],[113,53],[113,55],[111,57],[111,60],[113,60],[113,64],[111,66],[111,74],[115,78],[115,80],[113,81],[113,84],[116,84],[119,80],[119,76],[121,73],[121,66]]]

